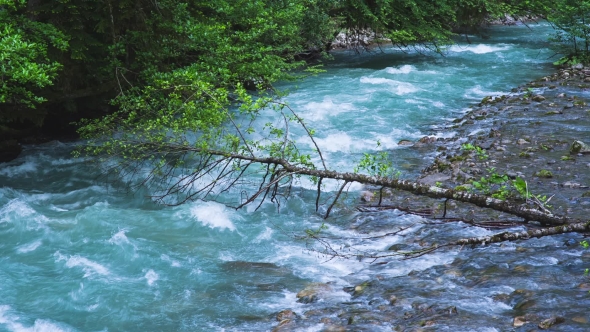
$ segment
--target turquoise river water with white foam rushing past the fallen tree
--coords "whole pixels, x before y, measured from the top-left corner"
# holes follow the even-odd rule
[[[416,165],[431,156],[398,142],[452,136],[440,129],[470,105],[550,73],[556,59],[547,49],[549,31],[534,24],[493,27],[489,39],[469,36],[471,44],[460,40],[444,56],[391,47],[336,52],[326,72],[283,88],[317,130],[329,167],[351,170],[363,152],[381,149],[397,156],[405,175],[416,175]],[[270,204],[258,211],[213,202],[158,206],[145,193],[126,194],[98,180],[96,165],[71,156],[75,144],[25,146],[17,160],[0,165],[0,331],[270,330],[276,312],[303,315],[349,301],[344,287],[377,274],[399,283],[401,308],[455,306],[464,318],[438,330],[510,329],[515,304],[494,296],[517,289],[541,294],[540,316],[587,316],[588,295],[577,285],[588,259],[581,248],[563,246],[563,237],[385,265],[329,259],[293,236],[323,222],[312,195],[294,195],[280,211]],[[353,196],[360,189],[353,186]],[[414,232],[439,241],[491,234],[462,224],[430,229],[420,219],[337,206],[325,232],[366,250],[403,239],[360,241],[351,224],[389,225],[371,234],[417,225]],[[526,273],[515,273],[517,266]],[[318,303],[298,303],[297,292],[310,282],[330,283],[333,291]]]

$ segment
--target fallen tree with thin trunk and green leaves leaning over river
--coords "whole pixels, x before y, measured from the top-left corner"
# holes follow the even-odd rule
[[[212,98],[212,97],[211,97]],[[256,112],[261,109],[262,99],[250,101]],[[402,256],[417,257],[434,250],[450,246],[486,245],[504,241],[526,240],[556,234],[571,232],[586,232],[590,222],[553,214],[541,204],[532,205],[522,199],[497,199],[470,191],[462,191],[438,186],[426,185],[417,181],[400,179],[399,174],[388,163],[386,154],[365,154],[355,172],[339,172],[331,170],[316,143],[313,131],[307,127],[288,105],[266,99],[264,107],[272,107],[282,119],[281,126],[264,126],[260,132],[266,132],[264,138],[251,139],[255,132],[252,127],[238,123],[243,120],[243,114],[226,113],[226,120],[230,124],[222,134],[216,136],[214,144],[211,137],[203,136],[191,138],[182,135],[171,136],[165,131],[145,130],[153,128],[151,123],[140,123],[136,119],[125,123],[121,117],[109,123],[110,128],[120,129],[117,137],[104,140],[104,136],[94,137],[94,141],[86,146],[85,151],[102,155],[108,160],[109,167],[106,174],[117,174],[118,177],[137,179],[130,183],[130,188],[151,187],[154,201],[166,205],[179,205],[187,201],[204,200],[218,201],[236,209],[249,204],[258,209],[265,201],[280,206],[281,198],[288,198],[295,182],[302,177],[311,180],[315,186],[315,205],[319,212],[324,206],[324,218],[328,218],[333,207],[341,199],[342,193],[351,183],[357,182],[374,186],[380,192],[384,188],[402,190],[414,195],[443,199],[472,204],[479,208],[491,209],[507,213],[527,222],[538,222],[543,228],[529,229],[522,232],[502,232],[481,238],[460,239],[457,241],[434,244],[414,252],[395,252],[375,255],[363,253],[366,258],[385,258]],[[252,108],[247,108],[252,111]],[[119,114],[121,115],[121,114]],[[256,113],[256,116],[259,114]],[[255,118],[255,117],[254,117]],[[252,125],[252,119],[249,119]],[[290,136],[290,126],[295,123],[300,127],[315,147],[315,160],[312,156],[301,152]],[[141,125],[140,125],[141,124]],[[133,130],[125,130],[125,125],[133,126]],[[229,129],[228,129],[229,128]],[[161,128],[160,128],[161,129]],[[229,141],[229,143],[227,143]],[[316,166],[319,164],[319,166]],[[332,197],[320,204],[321,198],[326,196],[322,185],[329,180],[338,182],[338,189],[331,193]],[[223,193],[240,190],[239,202],[232,203],[223,198]],[[381,202],[381,199],[379,200]],[[235,202],[235,201],[234,201]],[[446,211],[446,209],[445,209]],[[550,227],[547,227],[550,226]],[[342,254],[332,249],[317,232],[308,232],[308,238],[319,241],[324,245],[324,254],[339,257],[358,257],[358,253]]]

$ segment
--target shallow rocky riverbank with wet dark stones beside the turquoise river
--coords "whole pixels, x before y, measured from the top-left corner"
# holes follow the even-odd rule
[[[562,68],[553,75],[515,88],[511,93],[483,98],[481,103],[472,106],[463,117],[445,126],[446,131],[457,132],[456,136],[437,139],[433,132],[432,136],[415,143],[405,142],[408,145],[405,148],[439,152],[434,162],[423,170],[420,181],[424,183],[446,188],[463,187],[465,190],[480,192],[489,190],[490,193],[500,194],[502,190],[510,189],[502,189],[504,184],[521,178],[526,181],[530,193],[539,195],[541,201],[543,196],[546,197],[546,208],[558,214],[583,219],[590,213],[590,155],[584,149],[572,150],[572,143],[590,143],[589,95],[590,68]],[[492,177],[503,178],[504,183],[489,183],[488,188],[483,189],[478,187],[478,184],[481,185],[485,183],[485,179]],[[513,189],[510,190],[511,195],[516,194]],[[363,198],[366,200],[361,205],[363,211],[383,211],[382,208],[374,207],[376,196]],[[440,201],[405,193],[389,193],[382,205],[420,211],[421,215],[428,218],[441,217],[445,209]],[[538,227],[534,223],[525,225],[522,220],[494,211],[473,209],[466,204],[451,202],[447,204],[445,211],[449,221],[492,232],[510,227]],[[439,227],[435,224],[440,222],[433,222],[432,227]],[[371,231],[388,232],[391,231],[391,226],[380,224],[369,228]],[[555,249],[564,251],[564,237],[558,238],[554,243]],[[565,244],[572,247],[579,247],[578,241],[576,236],[565,237]],[[415,249],[417,243],[413,242],[393,245],[390,250]],[[537,268],[534,264],[531,267],[523,263],[527,258],[536,259],[535,253],[531,251],[533,249],[528,247],[529,244],[500,245],[488,253],[465,249],[465,258],[456,258],[444,267],[423,273],[412,271],[393,279],[385,273],[376,273],[368,280],[351,277],[357,283],[343,289],[351,296],[348,302],[326,307],[307,304],[311,306],[310,310],[302,309],[300,315],[290,309],[281,311],[271,318],[277,320],[274,330],[291,331],[311,326],[322,331],[372,331],[391,328],[396,331],[435,331],[452,326],[462,326],[466,330],[506,330],[519,327],[543,329],[553,324],[568,331],[589,328],[587,317],[575,308],[580,306],[579,303],[576,306],[562,305],[559,310],[543,308],[543,302],[547,300],[570,304],[572,301],[587,301],[587,296],[581,300],[576,295],[584,294],[584,290],[589,288],[582,275],[583,271],[578,271],[577,275],[567,275],[564,272],[563,275],[557,275],[557,279],[548,281],[568,283],[567,292],[551,290],[551,299],[543,298],[540,293],[543,287],[538,286],[529,285],[511,291],[490,288],[492,284],[501,284],[502,278],[518,280],[514,282],[515,285],[523,283],[523,279],[529,279],[529,274],[532,275],[530,282],[538,283],[533,272]],[[520,264],[513,260],[511,263],[494,263],[498,258],[488,257],[495,256],[495,253],[506,248],[521,256]],[[555,249],[543,246],[541,251],[545,254],[541,254],[541,257],[555,255]],[[572,255],[572,250],[576,252],[573,256],[579,257],[577,260],[587,262],[590,258],[590,254],[582,250],[570,249],[565,252]],[[488,266],[478,274],[479,267],[473,269],[471,266],[483,265],[482,259],[487,261]],[[566,261],[567,258],[564,259]],[[377,261],[374,270],[378,271],[382,266],[391,264],[396,264],[395,260]],[[421,301],[416,301],[415,294],[406,293],[400,288],[400,280],[395,281],[403,278],[414,279],[414,282],[416,278],[424,278],[424,292],[427,295]],[[468,288],[481,289],[484,298],[490,301],[486,305],[491,312],[484,316],[497,316],[497,325],[490,326],[489,320],[478,318],[472,312],[458,310],[457,306],[461,303],[456,302],[456,299],[444,299],[445,292],[441,292],[440,287],[449,287],[447,282],[450,280],[453,283],[462,280],[459,284],[467,283],[471,285]],[[303,289],[298,297],[303,303],[321,302],[326,293],[336,291],[332,288],[329,284],[312,284]],[[497,307],[502,308],[503,314],[494,313],[494,308]]]

